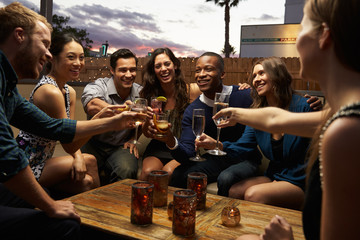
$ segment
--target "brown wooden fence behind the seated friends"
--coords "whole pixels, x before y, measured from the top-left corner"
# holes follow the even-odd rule
[[[195,63],[197,58],[179,58],[181,69],[188,83],[195,81]],[[257,58],[225,58],[225,81],[224,84],[232,85],[239,82],[246,82],[249,71]],[[315,90],[320,88],[317,83],[306,82],[299,76],[300,63],[299,58],[283,58],[289,72],[293,76],[293,88],[296,90]],[[136,82],[141,84],[141,71],[148,61],[147,57],[139,58]],[[80,74],[78,82],[91,82],[100,77],[109,77],[110,73],[109,58],[88,57],[85,60],[85,68]]]

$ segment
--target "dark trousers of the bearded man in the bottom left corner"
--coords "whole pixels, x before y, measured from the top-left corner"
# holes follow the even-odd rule
[[[0,184],[0,234],[10,239],[81,239],[80,223],[50,218]]]

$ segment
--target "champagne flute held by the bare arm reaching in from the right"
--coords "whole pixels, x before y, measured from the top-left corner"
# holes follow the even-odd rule
[[[215,93],[215,99],[214,99],[214,107],[213,107],[213,115],[215,115],[217,112],[219,112],[221,109],[229,107],[229,94],[225,93]],[[216,120],[214,120],[215,125],[217,127],[218,124],[221,123],[221,121],[224,121],[225,119],[220,117]],[[219,137],[220,137],[220,131],[221,128],[217,127],[217,136],[216,136],[216,147],[215,149],[208,150],[207,152],[212,155],[217,156],[223,156],[226,155],[226,152],[221,151],[219,149]]]

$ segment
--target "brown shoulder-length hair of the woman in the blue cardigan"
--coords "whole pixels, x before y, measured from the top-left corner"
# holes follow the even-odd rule
[[[251,97],[253,103],[251,107],[260,108],[268,106],[265,96],[259,96],[253,85],[253,71],[256,65],[262,65],[269,80],[273,83],[274,96],[277,100],[277,106],[286,109],[291,102],[294,93],[291,88],[292,76],[286,68],[285,63],[278,57],[262,58],[257,60],[249,76],[249,84],[251,86]]]

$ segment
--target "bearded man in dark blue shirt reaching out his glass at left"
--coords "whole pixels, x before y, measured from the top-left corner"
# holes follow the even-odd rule
[[[53,119],[26,101],[16,88],[17,81],[37,79],[43,65],[52,58],[51,30],[43,16],[20,3],[0,8],[1,239],[80,238],[80,216],[73,204],[53,200],[35,180],[10,124],[66,143],[112,129],[133,128],[137,118],[146,117],[126,112],[91,121]]]

